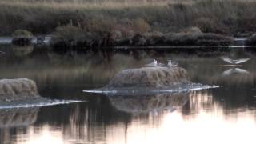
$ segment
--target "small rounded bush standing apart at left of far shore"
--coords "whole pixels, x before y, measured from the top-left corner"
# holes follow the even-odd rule
[[[33,34],[27,30],[15,30],[12,34],[13,40],[12,43],[15,45],[28,45],[30,44]]]

